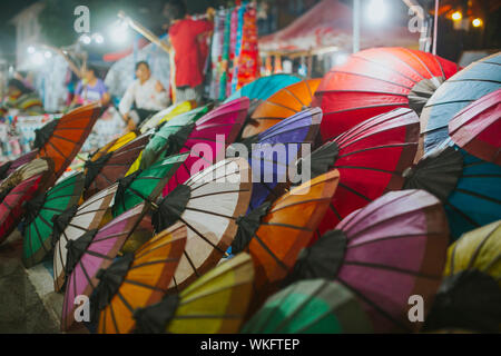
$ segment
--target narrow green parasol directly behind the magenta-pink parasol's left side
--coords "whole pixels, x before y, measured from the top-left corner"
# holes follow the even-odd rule
[[[146,169],[153,166],[163,158],[177,154],[177,141],[186,140],[186,137],[191,132],[195,122],[206,115],[208,106],[193,109],[188,112],[181,113],[165,122],[153,134],[148,145],[143,151],[140,167]],[[176,135],[179,134],[179,135]]]

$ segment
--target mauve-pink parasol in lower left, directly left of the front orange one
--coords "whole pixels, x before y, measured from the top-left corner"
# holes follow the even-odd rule
[[[62,304],[61,329],[78,328],[75,310],[80,303],[78,296],[90,297],[99,284],[99,270],[108,268],[146,212],[140,204],[100,228],[84,234],[67,244],[68,276],[65,300]]]

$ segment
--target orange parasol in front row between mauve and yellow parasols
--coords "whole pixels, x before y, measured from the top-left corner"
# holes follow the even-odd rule
[[[98,333],[132,332],[135,310],[161,300],[183,256],[186,234],[186,226],[176,224],[104,271],[91,300]]]

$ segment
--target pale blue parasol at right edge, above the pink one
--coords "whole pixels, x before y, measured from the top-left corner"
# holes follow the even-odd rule
[[[501,52],[473,62],[445,81],[430,98],[421,113],[424,154],[448,138],[448,125],[454,115],[501,88],[500,65]]]

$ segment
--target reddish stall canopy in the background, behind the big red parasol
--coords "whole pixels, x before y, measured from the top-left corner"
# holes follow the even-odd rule
[[[361,21],[361,49],[381,46],[419,47],[420,33],[412,33],[395,21],[384,26],[364,26]],[[352,49],[352,9],[337,0],[323,0],[288,27],[259,39],[264,52],[317,50],[337,47]]]

